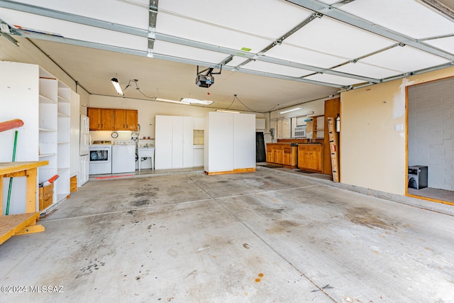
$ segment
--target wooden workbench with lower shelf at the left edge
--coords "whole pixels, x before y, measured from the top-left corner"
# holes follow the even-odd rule
[[[48,161],[0,162],[0,244],[12,236],[44,231],[44,226],[35,225],[39,221],[36,211],[36,187],[38,167],[48,165]],[[3,216],[3,180],[5,177],[27,177],[26,213]]]

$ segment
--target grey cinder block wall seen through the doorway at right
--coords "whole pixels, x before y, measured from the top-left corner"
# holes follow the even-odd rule
[[[428,187],[454,190],[454,77],[408,88],[408,165],[428,166]]]

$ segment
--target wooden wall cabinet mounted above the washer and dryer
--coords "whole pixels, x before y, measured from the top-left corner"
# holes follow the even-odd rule
[[[137,109],[96,109],[89,107],[90,131],[137,131]]]

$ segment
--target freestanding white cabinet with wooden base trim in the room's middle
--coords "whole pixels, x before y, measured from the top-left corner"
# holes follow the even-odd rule
[[[255,115],[210,111],[205,116],[208,175],[255,171]]]

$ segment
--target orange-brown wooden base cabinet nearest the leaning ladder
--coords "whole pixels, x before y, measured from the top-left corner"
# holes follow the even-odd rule
[[[298,168],[323,173],[323,144],[299,144]]]

